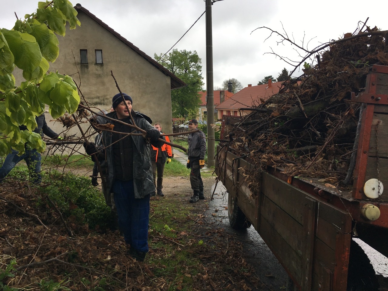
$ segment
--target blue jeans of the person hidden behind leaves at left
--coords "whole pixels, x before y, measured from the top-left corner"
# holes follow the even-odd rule
[[[0,179],[5,178],[9,172],[19,163],[22,159],[26,161],[28,169],[30,171],[31,180],[35,183],[42,182],[42,177],[40,175],[40,165],[42,161],[42,156],[40,152],[36,151],[36,149],[27,149],[21,156],[18,156],[18,151],[11,149],[12,152],[8,154],[5,158],[5,161],[0,168]]]

